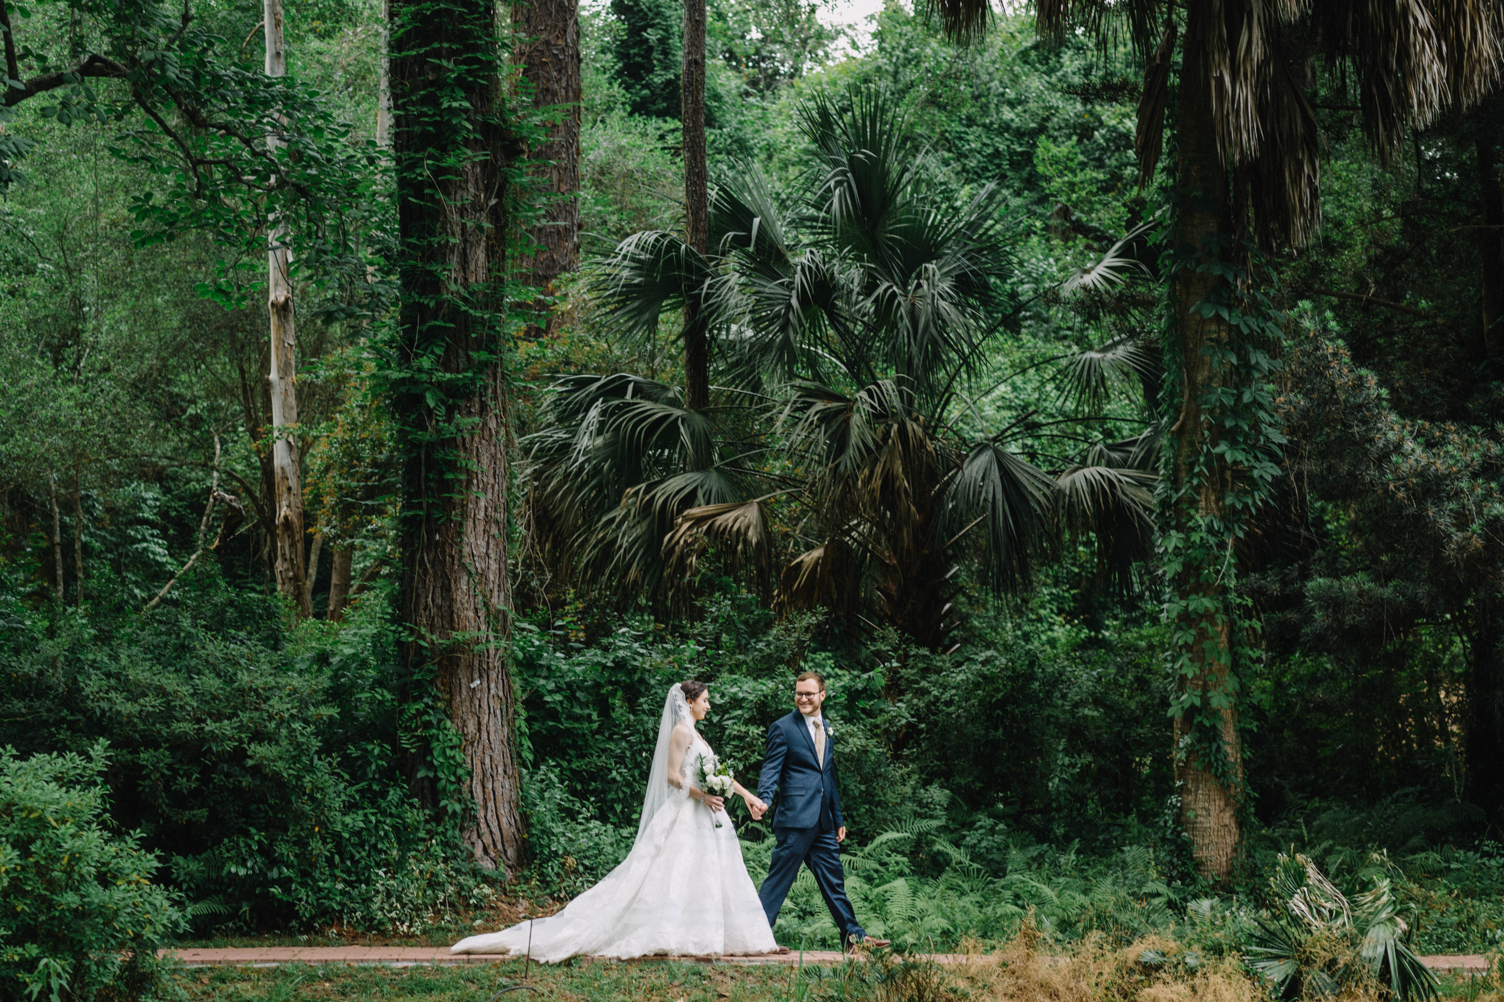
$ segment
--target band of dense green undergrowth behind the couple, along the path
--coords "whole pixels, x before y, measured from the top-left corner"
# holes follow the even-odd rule
[[[111,825],[158,855],[158,882],[193,934],[402,936],[484,921],[501,888],[445,849],[408,793],[381,595],[341,626],[289,626],[206,571],[149,617],[123,602],[8,614],[0,745],[96,754],[105,742]],[[1351,894],[1378,865],[1418,952],[1499,948],[1504,850],[1477,838],[1468,811],[1417,790],[1311,804],[1256,828],[1238,886],[1203,886],[1167,820],[1157,631],[1093,634],[1050,592],[951,658],[892,638],[833,650],[818,619],[773,620],[734,590],[678,629],[642,619],[593,635],[570,614],[523,623],[514,672],[532,864],[508,894],[566,898],[626,855],[669,684],[711,682],[707,736],[755,772],[797,659],[830,679],[850,894],[863,924],[901,945],[1002,942],[1032,916],[1056,942],[1163,934],[1232,954],[1277,907],[1268,874],[1295,850]],[[735,810],[757,879],[769,832]],[[1387,853],[1381,864],[1373,852]],[[835,943],[808,874],[778,934]]]

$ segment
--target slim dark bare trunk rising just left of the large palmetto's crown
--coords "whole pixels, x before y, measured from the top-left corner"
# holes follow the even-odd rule
[[[684,240],[704,254],[710,242],[710,180],[705,165],[705,0],[684,0],[684,63],[680,87],[684,129]],[[693,294],[684,305],[684,404],[690,410],[710,406],[710,338]]]

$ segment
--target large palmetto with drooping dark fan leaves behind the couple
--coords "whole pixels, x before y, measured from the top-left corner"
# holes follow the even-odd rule
[[[829,607],[934,649],[958,625],[964,565],[1017,587],[1074,530],[1102,536],[1104,572],[1122,577],[1151,536],[1145,451],[1104,443],[1050,473],[1026,446],[1084,442],[1080,422],[988,427],[973,400],[1018,308],[997,191],[957,200],[926,180],[880,92],[815,98],[800,126],[815,158],[793,210],[743,165],[711,198],[707,254],[654,231],[599,264],[623,335],[651,337],[692,300],[723,386],[692,410],[638,376],[558,383],[531,443],[549,554],[596,590],[666,598],[714,547],[776,580],[781,608]],[[1122,267],[1077,284],[1120,281]],[[1089,398],[1123,364],[1104,359],[1077,367]]]

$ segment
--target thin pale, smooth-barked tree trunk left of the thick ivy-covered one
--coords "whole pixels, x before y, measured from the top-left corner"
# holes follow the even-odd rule
[[[281,0],[265,0],[266,75],[287,74],[283,50]],[[275,140],[269,143],[278,146]],[[293,326],[292,279],[287,266],[292,255],[284,240],[287,227],[269,219],[266,236],[266,305],[271,315],[271,383],[272,395],[272,497],[277,506],[275,571],[277,590],[298,605],[304,619],[313,614],[304,587],[302,563],[302,482],[298,470],[298,335]]]

